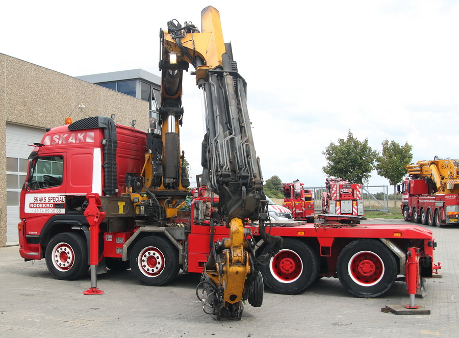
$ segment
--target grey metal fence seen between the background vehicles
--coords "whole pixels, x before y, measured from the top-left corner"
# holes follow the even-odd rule
[[[364,201],[364,211],[385,211],[400,207],[401,195],[392,194],[389,192],[389,186],[364,186],[362,185],[362,199]],[[322,211],[322,193],[325,192],[325,187],[304,187],[311,190],[314,198],[314,209],[316,212]],[[274,203],[282,205],[282,198],[272,199]]]

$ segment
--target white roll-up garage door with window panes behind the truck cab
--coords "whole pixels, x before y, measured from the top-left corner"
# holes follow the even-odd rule
[[[18,244],[19,193],[27,174],[27,158],[34,149],[28,144],[41,142],[45,130],[7,123],[7,245]]]

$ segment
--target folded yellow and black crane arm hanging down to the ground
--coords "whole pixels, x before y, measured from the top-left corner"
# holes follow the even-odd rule
[[[214,285],[211,289],[215,292],[210,292],[211,297],[216,297],[211,301],[213,314],[240,318],[242,302],[246,299],[250,302],[253,298],[260,300],[263,295],[263,290],[253,291],[251,287],[252,282],[261,278],[261,262],[254,257],[254,243],[246,238],[246,219],[259,221],[263,240],[275,246],[272,254],[282,246],[282,238],[270,236],[265,231],[267,201],[247,113],[246,83],[233,61],[231,44],[223,42],[218,11],[209,6],[202,10],[201,19],[202,32],[192,23],[185,22],[182,27],[172,20],[167,24],[168,30],[160,33],[159,113],[163,131],[164,124],[170,128],[174,123],[173,132],[178,134],[183,114],[182,76],[191,64],[206,114],[202,185],[219,196],[217,215],[220,219],[217,223],[230,228],[230,238],[213,244],[203,278],[205,283]],[[206,288],[207,291],[211,289]],[[260,297],[248,298],[253,292],[261,293]],[[260,306],[261,302],[255,304],[252,305]]]

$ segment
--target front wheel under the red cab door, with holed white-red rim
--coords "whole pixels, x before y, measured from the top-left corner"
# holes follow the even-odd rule
[[[45,258],[49,272],[56,279],[78,279],[89,270],[88,246],[77,233],[58,233],[46,246]]]

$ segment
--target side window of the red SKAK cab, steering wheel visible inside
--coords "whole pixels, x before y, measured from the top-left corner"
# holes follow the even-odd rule
[[[30,189],[56,187],[62,184],[64,158],[62,156],[41,157],[36,160]]]

